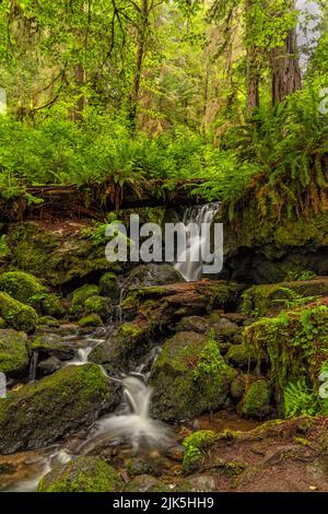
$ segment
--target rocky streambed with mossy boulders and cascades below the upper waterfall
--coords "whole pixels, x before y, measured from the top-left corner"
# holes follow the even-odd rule
[[[328,489],[327,277],[185,282],[109,267],[74,224],[28,231],[0,273],[2,490]]]

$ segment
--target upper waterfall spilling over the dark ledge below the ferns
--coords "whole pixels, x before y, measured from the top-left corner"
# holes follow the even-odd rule
[[[187,282],[200,280],[203,265],[201,250],[207,244],[206,235],[195,236],[188,226],[190,223],[196,224],[200,231],[202,223],[212,223],[219,209],[220,203],[207,203],[201,207],[190,207],[184,213],[183,222],[186,226],[187,247],[177,256],[177,262],[174,267]]]

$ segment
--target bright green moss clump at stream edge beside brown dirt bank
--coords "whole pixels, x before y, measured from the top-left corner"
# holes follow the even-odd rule
[[[187,472],[199,469],[204,455],[216,441],[218,434],[211,430],[200,430],[188,435],[183,442],[185,448],[184,470]]]

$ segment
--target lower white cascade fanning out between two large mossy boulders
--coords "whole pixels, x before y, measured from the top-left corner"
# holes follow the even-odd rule
[[[95,433],[80,452],[87,454],[101,441],[124,437],[137,451],[140,446],[163,447],[172,442],[169,430],[150,417],[152,388],[136,376],[120,381],[124,385],[122,413],[106,416],[95,423]]]

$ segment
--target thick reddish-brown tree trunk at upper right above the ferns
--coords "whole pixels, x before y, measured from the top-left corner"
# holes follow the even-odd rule
[[[302,87],[295,28],[289,31],[284,47],[272,50],[271,68],[272,104],[276,105]]]

